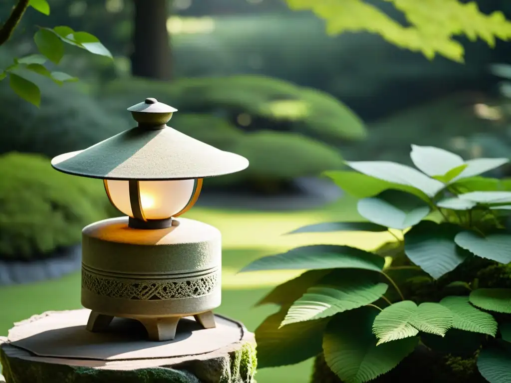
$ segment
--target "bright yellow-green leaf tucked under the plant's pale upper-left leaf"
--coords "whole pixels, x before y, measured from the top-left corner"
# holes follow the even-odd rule
[[[358,198],[373,197],[385,190],[396,189],[413,194],[424,201],[429,200],[428,196],[415,187],[387,182],[358,172],[329,171],[323,174],[330,177],[344,192]]]

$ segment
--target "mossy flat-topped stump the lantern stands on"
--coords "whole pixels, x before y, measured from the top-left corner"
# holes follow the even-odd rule
[[[6,383],[254,383],[255,340],[243,324],[215,315],[204,329],[179,321],[176,338],[146,340],[144,326],[115,318],[86,330],[90,310],[47,312],[16,323],[0,339]]]

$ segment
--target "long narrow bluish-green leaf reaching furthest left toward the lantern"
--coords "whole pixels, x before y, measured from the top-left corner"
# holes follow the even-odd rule
[[[260,270],[365,269],[381,272],[385,260],[348,246],[313,245],[254,260],[240,272]]]

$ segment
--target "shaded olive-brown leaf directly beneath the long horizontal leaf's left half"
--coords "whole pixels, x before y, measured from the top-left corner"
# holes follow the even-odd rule
[[[289,307],[291,303],[304,295],[308,288],[316,284],[321,278],[331,272],[332,270],[306,271],[300,276],[276,286],[264,298],[257,302],[255,306],[273,303]]]

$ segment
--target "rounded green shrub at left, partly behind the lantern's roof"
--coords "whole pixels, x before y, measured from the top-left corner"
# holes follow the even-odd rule
[[[46,257],[80,243],[84,226],[119,215],[101,180],[57,172],[36,154],[0,156],[0,258]]]

